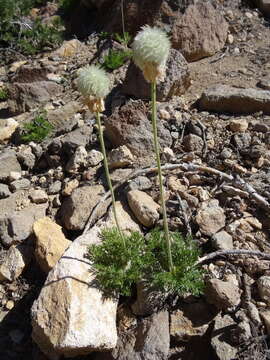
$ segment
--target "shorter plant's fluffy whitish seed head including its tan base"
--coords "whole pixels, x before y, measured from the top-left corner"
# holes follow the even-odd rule
[[[104,111],[104,98],[110,90],[110,79],[98,66],[90,65],[78,71],[77,87],[84,103],[92,112]]]

